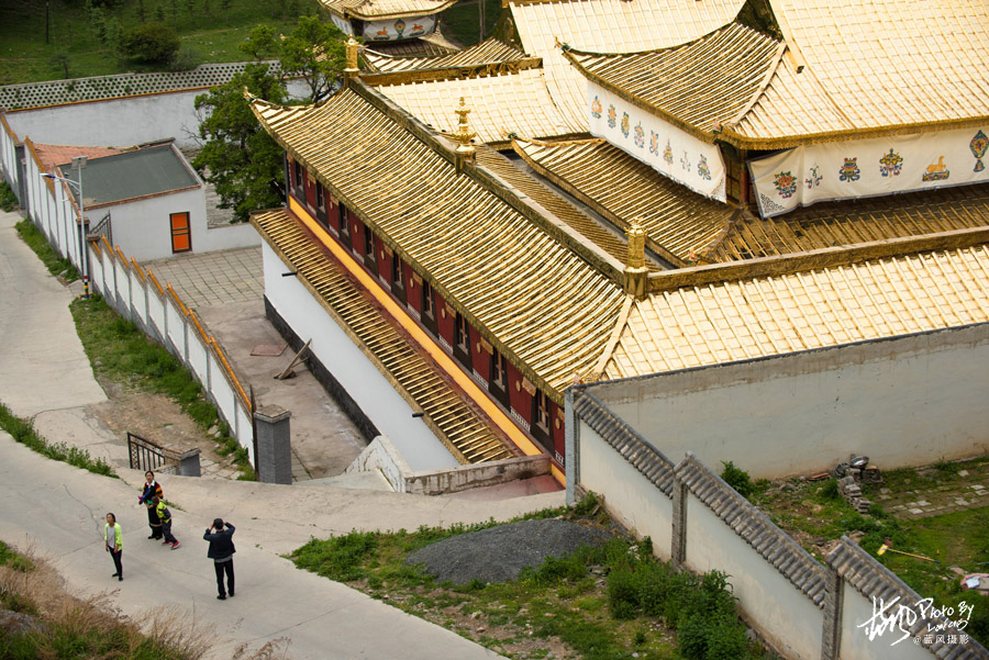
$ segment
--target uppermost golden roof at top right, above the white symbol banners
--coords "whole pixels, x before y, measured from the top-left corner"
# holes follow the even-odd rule
[[[694,135],[748,149],[989,122],[984,0],[769,4],[782,42],[730,24],[680,47],[568,43],[565,55]]]

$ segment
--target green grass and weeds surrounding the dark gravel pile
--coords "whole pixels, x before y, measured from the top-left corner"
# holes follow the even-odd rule
[[[594,506],[580,508],[597,514]],[[532,517],[588,519],[576,507],[519,519]],[[512,582],[493,584],[437,584],[420,567],[405,563],[424,546],[493,525],[354,530],[311,539],[289,559],[509,658],[551,652],[584,660],[624,660],[633,653],[646,660],[770,657],[748,642],[723,574],[677,573],[655,559],[648,539],[635,544],[616,537],[569,557],[549,558]],[[693,640],[692,650],[684,639]]]

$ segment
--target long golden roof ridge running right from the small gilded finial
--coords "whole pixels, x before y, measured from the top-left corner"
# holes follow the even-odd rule
[[[794,272],[823,270],[878,259],[914,257],[920,253],[957,250],[989,243],[989,226],[825,247],[801,254],[759,257],[742,262],[712,264],[649,273],[649,293],[703,287]]]

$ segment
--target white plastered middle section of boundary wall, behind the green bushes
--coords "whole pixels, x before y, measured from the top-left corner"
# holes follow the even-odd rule
[[[581,461],[581,473],[585,469]],[[686,564],[729,575],[738,604],[790,660],[821,658],[824,612],[753,550],[692,493],[687,495]],[[851,658],[851,656],[849,656]]]

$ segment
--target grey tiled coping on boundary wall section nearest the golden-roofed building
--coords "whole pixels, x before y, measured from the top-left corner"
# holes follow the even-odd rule
[[[574,391],[574,410],[581,421],[611,445],[643,477],[670,496],[674,488],[674,463],[648,440],[615,415],[586,388]]]

